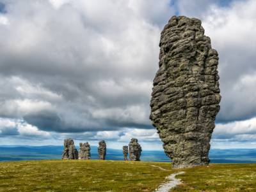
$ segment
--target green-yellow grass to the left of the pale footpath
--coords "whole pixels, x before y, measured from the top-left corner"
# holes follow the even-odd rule
[[[4,162],[0,163],[0,191],[154,191],[170,174],[170,163],[99,160]]]

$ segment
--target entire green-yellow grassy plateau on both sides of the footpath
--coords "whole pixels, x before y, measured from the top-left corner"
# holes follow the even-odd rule
[[[171,163],[41,160],[0,163],[0,191],[154,191]],[[256,191],[256,164],[211,164],[186,168],[172,191]]]

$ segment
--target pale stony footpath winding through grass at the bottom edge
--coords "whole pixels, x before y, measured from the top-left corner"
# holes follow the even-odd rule
[[[155,192],[168,192],[170,189],[175,188],[177,185],[181,184],[181,179],[175,178],[176,175],[185,174],[185,172],[178,172],[176,174],[171,174],[166,179],[169,181],[161,184],[159,188],[156,189]]]

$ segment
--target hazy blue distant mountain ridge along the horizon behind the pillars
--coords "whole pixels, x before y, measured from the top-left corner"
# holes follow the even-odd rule
[[[56,145],[2,145],[0,161],[61,159],[62,151],[63,146]],[[211,163],[256,163],[256,149],[211,149],[209,157]],[[91,146],[91,158],[98,159],[96,146]],[[106,159],[123,160],[123,152],[121,149],[108,148]],[[143,150],[141,161],[168,162],[170,159],[164,154],[164,151]]]

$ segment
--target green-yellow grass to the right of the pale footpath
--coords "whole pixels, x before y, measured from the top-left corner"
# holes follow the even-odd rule
[[[186,174],[179,175],[183,184],[174,192],[237,192],[256,191],[255,164],[211,164],[184,169]]]

